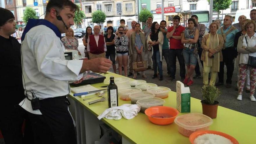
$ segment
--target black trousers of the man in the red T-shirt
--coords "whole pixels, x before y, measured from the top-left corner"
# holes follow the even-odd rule
[[[182,56],[183,49],[169,49],[170,53],[170,77],[175,78],[176,74],[176,57],[179,61],[179,75],[182,79],[185,78],[185,61],[184,57]]]

